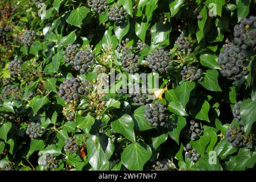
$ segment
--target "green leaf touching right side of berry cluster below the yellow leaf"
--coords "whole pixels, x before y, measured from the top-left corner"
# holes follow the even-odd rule
[[[176,119],[176,118],[175,118]],[[186,119],[184,117],[178,116],[177,122],[175,122],[175,127],[172,131],[168,132],[168,135],[179,144],[180,131],[187,125]]]

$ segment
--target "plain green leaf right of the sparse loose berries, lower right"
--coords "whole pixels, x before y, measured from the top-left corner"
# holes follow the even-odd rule
[[[210,142],[209,134],[204,133],[203,136],[200,136],[199,140],[191,141],[189,143],[192,145],[193,148],[195,148],[197,152],[199,152],[199,154],[204,155],[205,148],[207,147],[209,142]]]

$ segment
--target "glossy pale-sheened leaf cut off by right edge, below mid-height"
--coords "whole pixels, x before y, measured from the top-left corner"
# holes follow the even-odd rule
[[[248,135],[251,131],[251,126],[256,121],[256,101],[248,98],[242,102],[240,113],[245,127],[245,134]]]

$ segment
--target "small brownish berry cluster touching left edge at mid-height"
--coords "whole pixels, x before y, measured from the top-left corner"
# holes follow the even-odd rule
[[[6,85],[1,94],[3,95],[2,97],[0,97],[0,99],[2,100],[3,98],[11,98],[13,97],[14,100],[19,100],[22,97],[22,92],[20,92],[20,89],[17,86],[14,85]]]

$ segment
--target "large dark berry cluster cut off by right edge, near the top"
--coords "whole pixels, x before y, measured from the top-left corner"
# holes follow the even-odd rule
[[[241,23],[234,26],[234,44],[241,49],[256,52],[256,16],[241,19]]]

